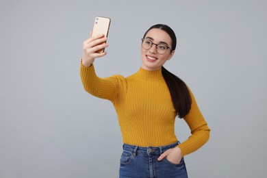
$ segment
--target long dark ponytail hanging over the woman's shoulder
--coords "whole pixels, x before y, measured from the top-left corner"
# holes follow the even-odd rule
[[[179,118],[185,117],[190,111],[192,104],[190,92],[186,84],[179,77],[167,71],[164,66],[162,66],[162,75],[170,91],[176,115]]]

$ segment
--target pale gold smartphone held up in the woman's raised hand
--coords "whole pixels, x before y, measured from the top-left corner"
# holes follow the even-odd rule
[[[92,29],[92,36],[97,36],[99,34],[104,34],[107,37],[108,31],[110,29],[111,19],[108,17],[97,16],[94,20],[94,28]],[[99,49],[97,53],[103,53],[105,48]]]

